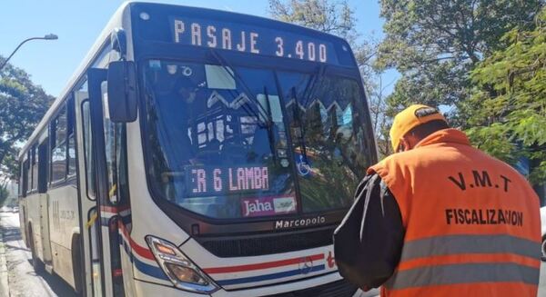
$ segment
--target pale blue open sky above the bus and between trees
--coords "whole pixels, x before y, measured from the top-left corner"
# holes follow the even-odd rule
[[[50,33],[58,40],[33,40],[14,54],[10,64],[24,69],[47,94],[59,95],[123,0],[4,0],[0,9],[0,54],[8,56],[28,37]],[[159,2],[148,0],[147,2]],[[200,6],[268,17],[268,0],[162,0],[162,3]],[[381,38],[384,21],[378,0],[349,0],[363,36]],[[390,71],[384,82],[397,74]],[[391,85],[392,86],[392,85]],[[386,90],[390,93],[391,87]]]

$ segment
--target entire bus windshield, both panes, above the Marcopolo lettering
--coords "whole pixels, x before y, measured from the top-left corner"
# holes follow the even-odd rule
[[[167,60],[143,69],[160,199],[215,219],[349,207],[369,163],[356,81]]]

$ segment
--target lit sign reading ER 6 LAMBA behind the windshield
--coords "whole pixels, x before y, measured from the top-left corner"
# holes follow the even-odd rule
[[[187,166],[187,191],[190,196],[241,193],[269,189],[268,167]]]

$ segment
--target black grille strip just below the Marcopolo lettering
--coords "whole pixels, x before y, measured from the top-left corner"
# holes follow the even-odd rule
[[[249,257],[271,253],[294,252],[332,244],[334,229],[298,233],[269,233],[243,238],[196,238],[208,252],[217,257]]]

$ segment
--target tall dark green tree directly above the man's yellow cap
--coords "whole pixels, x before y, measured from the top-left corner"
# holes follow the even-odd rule
[[[413,103],[459,107],[470,96],[470,71],[506,46],[501,37],[511,28],[528,28],[541,5],[543,0],[381,0],[386,37],[376,65],[402,75],[388,98],[390,114]],[[454,124],[465,124],[464,117],[449,115]]]

